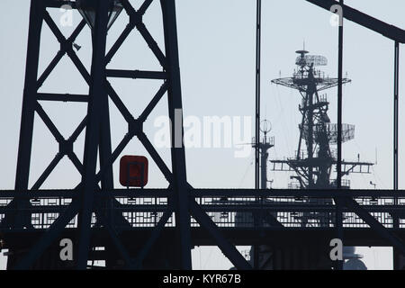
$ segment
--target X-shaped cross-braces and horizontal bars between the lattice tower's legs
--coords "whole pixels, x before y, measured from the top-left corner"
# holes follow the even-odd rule
[[[130,35],[130,32],[133,30],[139,31],[139,34],[148,44],[150,50],[156,56],[159,64],[162,67],[162,71],[143,71],[143,70],[123,70],[123,69],[106,69],[106,76],[107,79],[105,81],[105,87],[107,93],[109,95],[110,100],[116,108],[121,112],[123,119],[128,124],[128,132],[123,136],[117,147],[112,152],[112,157],[108,159],[106,163],[103,164],[100,171],[97,173],[97,180],[100,181],[102,175],[105,173],[107,167],[112,165],[117,157],[120,156],[122,150],[127,146],[130,142],[130,139],[133,137],[137,137],[139,141],[144,145],[144,147],[148,150],[148,153],[151,157],[157,160],[157,165],[160,167],[162,173],[166,176],[166,179],[170,180],[170,170],[164,165],[164,161],[159,157],[155,148],[148,140],[145,132],[142,130],[142,124],[144,121],[147,120],[148,115],[150,112],[153,111],[157,103],[162,99],[162,97],[166,94],[168,88],[167,82],[167,72],[165,71],[167,63],[166,57],[162,50],[158,47],[157,41],[155,41],[152,35],[149,33],[148,28],[144,23],[142,23],[142,17],[147,12],[148,6],[152,3],[152,0],[146,1],[142,4],[138,11],[136,11],[128,1],[123,1],[124,9],[129,15],[130,22],[125,27],[125,29],[121,32],[120,37],[115,43],[112,45],[112,48],[108,51],[105,56],[105,62],[110,63],[114,55],[120,49],[122,43],[127,39]],[[37,85],[38,88],[45,82],[51,72],[57,67],[58,63],[60,62],[61,58],[64,56],[70,58],[75,65],[77,71],[83,76],[85,82],[90,84],[90,74],[85,68],[85,65],[82,63],[80,58],[77,57],[75,49],[73,49],[72,44],[75,42],[77,36],[80,34],[81,31],[86,27],[85,20],[82,20],[76,27],[76,30],[68,37],[65,38],[62,32],[59,30],[58,25],[52,20],[48,12],[44,14],[44,21],[48,24],[50,30],[53,32],[55,37],[57,38],[58,42],[60,43],[60,50],[58,51],[57,55],[50,61],[49,66],[46,67],[44,72],[38,79]],[[148,106],[140,113],[139,117],[135,118],[126,105],[121,101],[121,97],[115,89],[112,87],[108,78],[132,78],[132,79],[152,79],[152,80],[163,80],[163,84],[160,85],[159,89],[157,90],[156,94],[153,95],[152,100],[148,103]],[[59,145],[59,150],[57,155],[52,159],[49,163],[49,166],[45,169],[42,175],[40,175],[39,179],[32,185],[31,189],[36,190],[39,189],[41,184],[44,183],[48,175],[53,171],[55,166],[58,165],[60,159],[64,156],[67,156],[78,172],[83,172],[83,165],[81,161],[76,156],[76,153],[73,149],[73,144],[76,141],[77,137],[80,133],[85,130],[86,124],[86,116],[85,118],[80,121],[80,124],[76,127],[74,132],[71,136],[65,139],[62,134],[59,132],[56,125],[50,120],[48,114],[42,108],[40,101],[63,101],[63,102],[87,102],[88,95],[86,94],[50,94],[50,93],[38,93],[37,99],[35,102],[35,112],[40,116],[40,119],[46,124],[49,131],[52,133],[54,138],[57,140]]]

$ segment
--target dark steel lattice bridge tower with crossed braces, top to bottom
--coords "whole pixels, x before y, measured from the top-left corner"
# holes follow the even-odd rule
[[[175,245],[176,257],[169,261],[171,266],[168,268],[191,269],[191,237],[190,237],[190,211],[189,211],[189,185],[186,180],[185,155],[183,146],[183,107],[180,83],[180,69],[178,58],[178,44],[175,17],[175,0],[161,0],[161,11],[163,20],[163,34],[165,40],[164,53],[153,39],[147,27],[142,21],[143,15],[147,12],[152,2],[157,0],[145,0],[136,10],[130,4],[129,0],[121,0],[118,3],[123,11],[128,14],[129,23],[121,32],[121,36],[112,45],[110,50],[106,50],[106,38],[109,19],[109,12],[113,4],[117,1],[94,1],[95,21],[92,29],[93,37],[93,57],[91,71],[87,72],[85,66],[77,57],[73,49],[73,43],[79,33],[85,28],[85,20],[82,20],[76,30],[69,38],[65,38],[61,31],[49,15],[49,8],[60,8],[63,4],[69,4],[73,9],[79,8],[76,3],[70,1],[45,1],[31,0],[30,27],[27,50],[27,63],[25,73],[25,83],[23,90],[23,112],[20,130],[20,142],[18,148],[17,173],[15,179],[15,190],[20,193],[26,193],[31,190],[38,190],[53,171],[61,158],[67,156],[77,170],[82,175],[81,182],[73,189],[78,193],[66,208],[64,213],[58,215],[57,219],[50,223],[49,229],[30,242],[30,244],[20,243],[19,247],[10,249],[8,261],[9,269],[27,269],[27,268],[60,268],[60,265],[53,265],[58,261],[43,260],[43,265],[38,265],[43,254],[47,257],[58,258],[58,241],[62,234],[66,234],[66,227],[69,222],[78,215],[76,223],[76,233],[73,235],[75,244],[75,260],[70,266],[78,269],[85,269],[89,259],[89,252],[93,244],[94,225],[93,217],[96,218],[96,226],[106,229],[111,240],[106,245],[106,255],[111,258],[110,264],[114,266],[116,257],[125,262],[130,268],[141,268],[150,247],[156,243],[160,230],[168,218],[175,213],[175,229],[177,238],[171,243]],[[42,23],[47,23],[57,40],[60,42],[58,54],[50,61],[49,67],[39,77],[40,63],[40,44]],[[138,30],[139,34],[147,42],[148,48],[156,56],[161,65],[161,71],[139,71],[139,70],[118,70],[109,69],[107,66],[115,55],[121,44],[126,40],[130,31]],[[85,78],[89,85],[89,93],[86,95],[78,94],[42,94],[39,93],[40,86],[49,76],[52,70],[58,65],[59,60],[67,56],[71,58],[79,73]],[[155,81],[162,81],[162,85],[157,94],[151,97],[150,103],[135,118],[129,109],[121,102],[120,96],[114,91],[110,84],[109,77],[121,78],[142,78]],[[170,170],[163,159],[157,153],[152,143],[143,131],[143,122],[147,120],[148,115],[155,108],[159,100],[167,95],[168,115],[175,129],[172,129],[172,148]],[[87,103],[87,113],[85,119],[80,122],[74,133],[65,139],[58,128],[50,120],[47,113],[43,110],[40,101],[64,101],[64,102],[84,102]],[[128,122],[128,132],[121,140],[120,144],[112,149],[111,126],[109,100],[115,104],[121,112],[124,119]],[[40,178],[29,187],[31,144],[34,131],[34,115],[37,113],[40,119],[46,124],[52,135],[58,141],[59,151],[57,156],[50,162],[49,166],[40,175]],[[85,130],[85,154],[83,161],[80,161],[73,149],[78,135]],[[162,174],[169,183],[170,191],[167,202],[169,208],[160,218],[157,228],[152,232],[150,239],[139,251],[129,252],[129,247],[122,244],[120,233],[122,227],[129,227],[130,222],[122,216],[122,213],[112,211],[112,207],[118,207],[120,202],[108,195],[113,191],[113,171],[112,164],[120,156],[122,150],[127,146],[130,140],[137,137],[141,144],[148,151],[149,156],[155,161]],[[100,170],[97,171],[97,160],[100,160]],[[101,185],[100,185],[101,183]],[[69,189],[69,187],[67,187]],[[168,191],[168,190],[167,190]],[[96,197],[103,193],[104,197]],[[31,212],[24,212],[24,208],[30,207],[28,198],[14,198],[9,204],[13,212],[6,214],[1,222],[1,228],[23,229],[31,228]],[[110,209],[108,209],[110,207]],[[55,248],[55,246],[57,248]],[[174,247],[167,247],[173,250]],[[53,251],[53,252],[52,252]],[[118,256],[111,255],[111,251],[118,251]],[[50,253],[50,256],[49,256]],[[178,257],[180,255],[180,257]],[[177,259],[178,258],[178,259]],[[121,261],[122,262],[122,261]],[[153,264],[152,264],[153,266]],[[167,267],[167,266],[166,266]],[[159,268],[156,266],[155,268]],[[160,267],[163,268],[163,267]]]

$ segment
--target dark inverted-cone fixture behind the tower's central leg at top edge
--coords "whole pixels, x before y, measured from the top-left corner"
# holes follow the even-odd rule
[[[82,14],[85,22],[90,26],[90,28],[94,29],[95,23],[95,10],[97,7],[98,0],[78,0],[77,1],[77,10],[80,14]],[[110,9],[108,13],[108,24],[107,30],[110,29],[112,23],[118,18],[121,14],[123,9],[121,0],[111,0],[110,1]]]

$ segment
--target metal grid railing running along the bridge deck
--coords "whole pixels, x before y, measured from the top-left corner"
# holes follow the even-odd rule
[[[267,194],[270,194],[268,192]],[[101,213],[111,213],[122,216],[128,224],[122,229],[155,227],[167,209],[167,197],[161,193],[151,194],[145,197],[145,193],[132,193],[129,197],[118,193],[115,199],[119,202],[114,207],[103,205]],[[323,194],[317,196],[314,193],[302,193],[297,190],[285,196],[275,193],[275,196],[195,196],[195,201],[200,204],[215,224],[224,228],[262,228],[272,229],[274,224],[269,220],[277,220],[285,229],[290,228],[332,228],[335,227],[336,205],[332,197]],[[357,193],[358,194],[358,193]],[[76,195],[44,196],[44,194],[25,195],[29,204],[25,208],[16,210],[12,202],[13,197],[1,197],[0,192],[0,220],[6,213],[27,213],[31,216],[31,229],[48,229],[49,226],[63,213],[67,206],[75,199]],[[98,196],[103,198],[101,194]],[[370,212],[376,220],[386,228],[393,228],[393,215],[399,218],[400,229],[405,229],[405,195],[394,197],[392,194],[383,196],[375,193],[370,195],[354,195],[352,198],[365,211]],[[109,208],[107,208],[109,207]],[[113,207],[113,208],[112,208]],[[355,212],[343,208],[344,228],[367,228],[365,221]],[[117,216],[117,217],[118,217]],[[115,216],[112,216],[115,217]],[[97,222],[93,216],[93,225]],[[198,223],[191,219],[192,226],[198,227]],[[175,226],[175,216],[172,215],[166,223],[166,227]],[[77,216],[73,218],[67,228],[77,227]],[[4,229],[4,228],[3,228]]]

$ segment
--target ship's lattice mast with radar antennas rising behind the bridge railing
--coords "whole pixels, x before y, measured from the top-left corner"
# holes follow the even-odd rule
[[[370,173],[370,166],[373,166],[373,163],[360,162],[360,156],[357,161],[338,161],[338,153],[332,145],[354,139],[355,126],[340,124],[339,130],[338,124],[331,123],[327,94],[321,92],[337,86],[339,79],[325,76],[317,69],[328,64],[327,58],[309,55],[306,50],[298,50],[297,53],[300,56],[295,61],[297,70],[294,70],[293,77],[275,79],[272,83],[296,89],[302,96],[302,104],[299,105],[302,122],[299,125],[298,149],[295,157],[272,160],[273,170],[293,170],[297,175],[294,178],[298,180],[295,187],[299,189],[340,188],[342,175]],[[346,84],[350,81],[343,78],[341,83]],[[302,148],[303,144],[306,148]],[[330,180],[334,171],[337,171],[340,179]],[[348,183],[347,180],[343,187],[349,188]],[[293,185],[291,188],[294,188]]]

